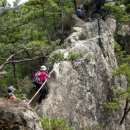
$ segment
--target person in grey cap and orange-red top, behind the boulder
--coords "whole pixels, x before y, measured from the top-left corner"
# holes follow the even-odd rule
[[[15,91],[16,89],[13,87],[13,86],[9,86],[8,88],[7,88],[7,95],[6,95],[6,98],[7,99],[11,99],[11,100],[16,100],[17,98],[16,98],[16,96],[14,96],[14,91]]]

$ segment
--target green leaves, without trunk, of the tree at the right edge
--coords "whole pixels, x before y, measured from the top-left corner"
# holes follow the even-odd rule
[[[126,76],[126,78],[124,77],[124,80],[127,81],[127,88],[116,90],[115,98],[113,98],[112,101],[104,104],[107,109],[111,110],[117,110],[124,100],[130,100],[130,56],[127,55],[125,51],[122,51],[122,48],[118,43],[115,44],[115,52],[120,66],[113,72],[113,75],[118,77],[122,75]]]

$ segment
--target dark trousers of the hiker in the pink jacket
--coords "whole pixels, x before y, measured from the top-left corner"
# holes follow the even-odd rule
[[[35,83],[35,85],[36,85],[36,89],[35,90],[38,91],[39,88],[41,87],[41,84]],[[47,86],[43,86],[39,93],[40,93],[40,96],[38,98],[38,103],[41,103],[42,99],[45,99],[47,94],[48,94],[48,87]]]

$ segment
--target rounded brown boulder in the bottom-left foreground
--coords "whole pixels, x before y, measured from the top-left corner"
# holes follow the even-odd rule
[[[39,122],[26,103],[0,99],[0,130],[42,130]]]

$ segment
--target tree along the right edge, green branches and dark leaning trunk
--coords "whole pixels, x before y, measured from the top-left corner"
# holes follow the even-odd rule
[[[125,90],[116,90],[115,98],[112,101],[108,102],[105,106],[108,109],[118,110],[120,109],[121,104],[125,102],[124,112],[120,119],[120,125],[122,125],[128,113],[130,112],[130,56],[122,52],[121,46],[118,44],[116,45],[115,51],[117,54],[117,59],[118,61],[120,60],[119,63],[121,65],[116,71],[113,72],[113,74],[116,76],[124,75],[126,77],[127,88]]]

